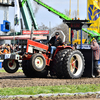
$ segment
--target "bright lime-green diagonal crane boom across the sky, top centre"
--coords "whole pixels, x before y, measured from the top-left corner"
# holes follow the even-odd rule
[[[55,10],[54,8],[48,6],[47,4],[41,2],[40,0],[34,0],[35,2],[37,2],[38,4],[40,4],[41,6],[45,7],[46,9],[48,9],[49,11],[53,12],[54,14],[58,15],[60,18],[64,19],[64,20],[71,20],[70,17],[66,16],[63,13],[60,13],[59,11]]]

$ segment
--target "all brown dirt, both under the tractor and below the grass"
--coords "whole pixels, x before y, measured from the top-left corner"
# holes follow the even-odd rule
[[[80,79],[57,79],[48,77],[48,78],[26,78],[25,75],[22,72],[17,72],[15,74],[8,74],[8,73],[0,73],[0,88],[5,87],[27,87],[27,86],[54,86],[54,85],[78,85],[78,84],[100,84],[99,78],[80,78]],[[83,97],[48,97],[45,98],[46,100],[85,100],[88,98],[88,100],[95,100],[96,95],[92,96],[83,96]],[[35,100],[33,97],[27,98],[25,100]],[[11,99],[10,99],[11,100]],[[14,99],[12,99],[14,100]],[[21,98],[16,98],[15,100],[24,100]],[[36,100],[44,100],[44,98],[39,97]]]

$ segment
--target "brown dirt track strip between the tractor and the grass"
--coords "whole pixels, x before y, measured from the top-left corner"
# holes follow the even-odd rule
[[[99,78],[81,79],[57,79],[57,78],[26,78],[22,72],[15,74],[0,73],[0,87],[26,87],[26,86],[49,86],[49,85],[77,85],[98,84]]]

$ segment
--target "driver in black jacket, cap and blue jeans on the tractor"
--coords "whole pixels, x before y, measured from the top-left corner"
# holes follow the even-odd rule
[[[53,55],[53,51],[56,50],[57,46],[63,45],[62,39],[60,38],[59,32],[55,33],[55,36],[52,37],[49,41],[49,46],[51,47],[51,56],[50,58],[52,58]]]

